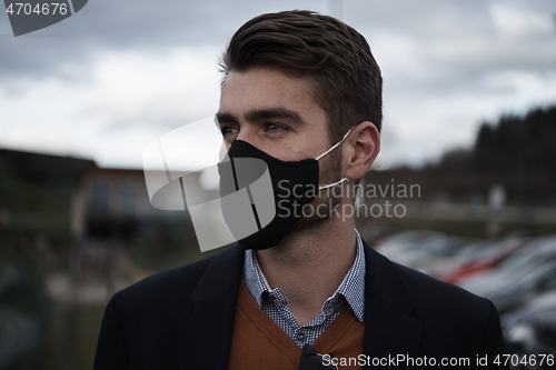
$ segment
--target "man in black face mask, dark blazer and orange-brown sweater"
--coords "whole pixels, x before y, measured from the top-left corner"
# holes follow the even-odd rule
[[[338,212],[380,147],[365,38],[308,11],[264,14],[222,70],[227,159],[264,160],[277,200],[314,191],[285,196],[272,222],[216,257],[116,293],[95,369],[492,367],[504,352],[493,304],[388,261]]]

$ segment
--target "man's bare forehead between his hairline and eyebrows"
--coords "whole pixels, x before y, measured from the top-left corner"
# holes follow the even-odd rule
[[[230,71],[222,83],[220,111],[242,114],[252,109],[278,107],[295,111],[304,119],[326,117],[312,97],[312,83],[307,77],[290,77],[272,69],[250,69]]]

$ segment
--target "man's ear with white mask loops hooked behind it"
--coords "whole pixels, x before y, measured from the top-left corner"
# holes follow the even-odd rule
[[[344,146],[345,177],[358,180],[367,173],[380,151],[380,133],[375,124],[365,121],[357,124]]]

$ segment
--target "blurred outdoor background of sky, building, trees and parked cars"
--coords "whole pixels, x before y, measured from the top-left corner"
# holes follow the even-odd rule
[[[151,207],[141,153],[212,116],[234,32],[289,9],[353,26],[383,70],[358,204],[399,207],[364,238],[493,300],[512,353],[556,354],[556,3],[92,0],[17,38],[0,13],[0,369],[91,369],[115,291],[219,251]]]

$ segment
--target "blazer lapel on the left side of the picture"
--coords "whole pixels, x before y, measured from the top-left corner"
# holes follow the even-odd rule
[[[179,369],[227,369],[244,250],[234,244],[215,256],[178,317]]]

